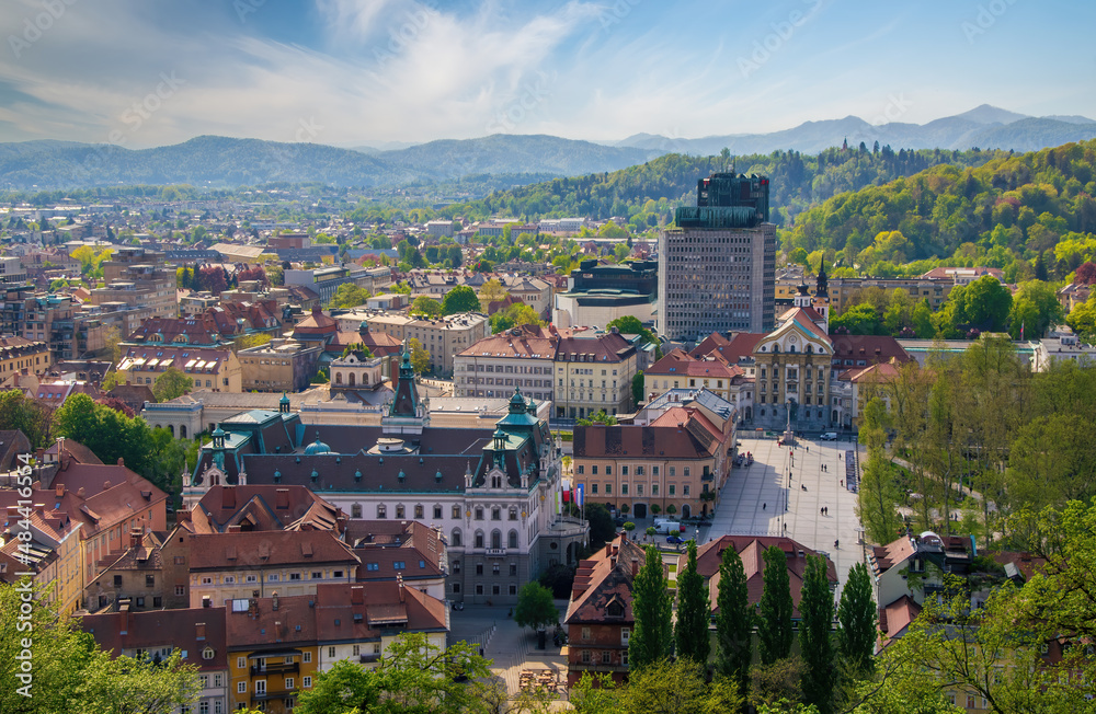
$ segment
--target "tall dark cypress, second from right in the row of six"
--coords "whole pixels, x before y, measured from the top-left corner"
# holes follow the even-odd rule
[[[833,711],[833,643],[830,623],[833,621],[833,594],[825,576],[825,558],[809,556],[799,599],[799,645],[803,653],[803,699],[818,707],[820,714]]]

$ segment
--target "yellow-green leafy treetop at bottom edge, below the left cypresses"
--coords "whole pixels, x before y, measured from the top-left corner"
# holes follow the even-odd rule
[[[704,667],[692,659],[653,665],[631,667],[621,695],[626,714],[722,714],[742,706],[734,682],[719,677],[706,683]]]

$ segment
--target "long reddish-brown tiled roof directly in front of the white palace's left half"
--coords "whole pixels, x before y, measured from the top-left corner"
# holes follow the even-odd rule
[[[358,558],[331,531],[242,531],[187,536],[191,572],[313,563],[356,567]]]

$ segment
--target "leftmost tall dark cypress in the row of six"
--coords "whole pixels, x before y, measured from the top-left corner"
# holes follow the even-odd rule
[[[647,562],[631,584],[631,612],[635,629],[628,641],[628,667],[638,671],[673,655],[674,636],[670,623],[672,606],[662,554],[648,545]]]

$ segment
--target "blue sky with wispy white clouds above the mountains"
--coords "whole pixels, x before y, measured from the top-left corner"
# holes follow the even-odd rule
[[[1096,117],[1091,0],[0,2],[0,141],[695,138],[983,103]]]

